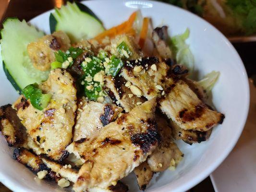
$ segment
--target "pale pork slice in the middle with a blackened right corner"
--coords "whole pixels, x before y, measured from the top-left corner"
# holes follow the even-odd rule
[[[101,128],[115,120],[121,111],[122,108],[113,104],[85,99],[79,101],[73,143],[67,147],[68,152],[81,158],[85,150],[83,142],[88,138],[97,137]]]

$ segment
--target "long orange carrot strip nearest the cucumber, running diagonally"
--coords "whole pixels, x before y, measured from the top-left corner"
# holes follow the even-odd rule
[[[116,36],[116,35],[121,35],[121,34],[130,34],[134,35],[135,31],[133,29],[133,24],[136,18],[136,12],[133,12],[129,19],[122,24],[119,24],[117,26],[114,26],[110,28],[109,30],[106,30],[99,34],[98,36],[94,37],[95,40],[100,42],[102,39],[104,39],[106,36],[109,36],[110,38]]]

